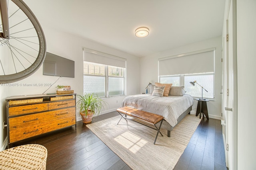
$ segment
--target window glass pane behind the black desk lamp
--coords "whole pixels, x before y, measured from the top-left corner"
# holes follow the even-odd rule
[[[197,83],[195,86],[190,84],[190,82],[196,82],[203,86],[208,92],[202,89]],[[214,98],[214,75],[213,74],[197,74],[197,75],[185,75],[184,76],[184,84],[186,94],[190,94],[196,98],[202,98],[202,90],[203,90],[203,98]]]

